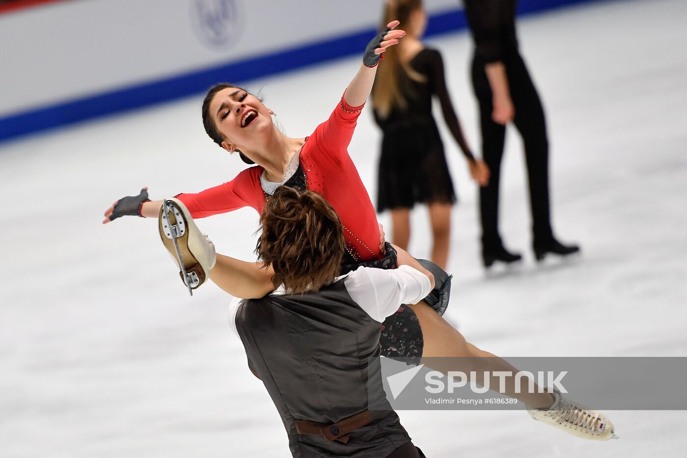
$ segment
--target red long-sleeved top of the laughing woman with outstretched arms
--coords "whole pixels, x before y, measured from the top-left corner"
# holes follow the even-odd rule
[[[363,106],[351,107],[342,97],[329,119],[307,138],[300,152],[300,164],[308,189],[322,194],[339,213],[348,252],[356,260],[372,261],[381,258],[379,226],[368,190],[348,155],[348,144]],[[261,166],[253,166],[230,182],[177,197],[194,218],[245,206],[262,213],[266,197],[260,187],[262,171]]]

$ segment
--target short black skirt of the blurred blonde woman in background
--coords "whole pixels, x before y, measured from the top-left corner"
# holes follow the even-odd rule
[[[416,203],[455,204],[444,146],[433,120],[385,127],[377,184],[378,212]]]

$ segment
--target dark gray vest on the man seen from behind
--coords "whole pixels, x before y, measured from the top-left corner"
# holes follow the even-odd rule
[[[294,457],[381,458],[410,441],[386,400],[379,364],[368,366],[379,357],[381,325],[352,300],[343,280],[317,293],[245,301],[236,328]],[[353,430],[346,444],[296,432],[295,420],[335,424],[368,408],[372,422]]]

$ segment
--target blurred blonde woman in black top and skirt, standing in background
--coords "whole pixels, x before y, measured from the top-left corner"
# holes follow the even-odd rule
[[[392,240],[407,249],[410,209],[417,202],[427,204],[433,236],[431,260],[445,269],[455,193],[431,113],[433,95],[441,102],[444,121],[475,182],[486,186],[489,171],[484,161],[475,160],[460,128],[446,87],[441,54],[420,41],[427,26],[422,0],[388,0],[384,17],[384,23],[392,18],[401,21],[407,34],[385,53],[372,88],[374,119],[383,131],[377,211],[391,210]]]

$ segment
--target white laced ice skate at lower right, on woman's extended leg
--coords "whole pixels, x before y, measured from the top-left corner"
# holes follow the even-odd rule
[[[605,415],[566,400],[556,389],[552,395],[555,401],[550,408],[528,408],[532,418],[583,439],[595,441],[618,439],[618,436],[614,434],[613,424]]]

